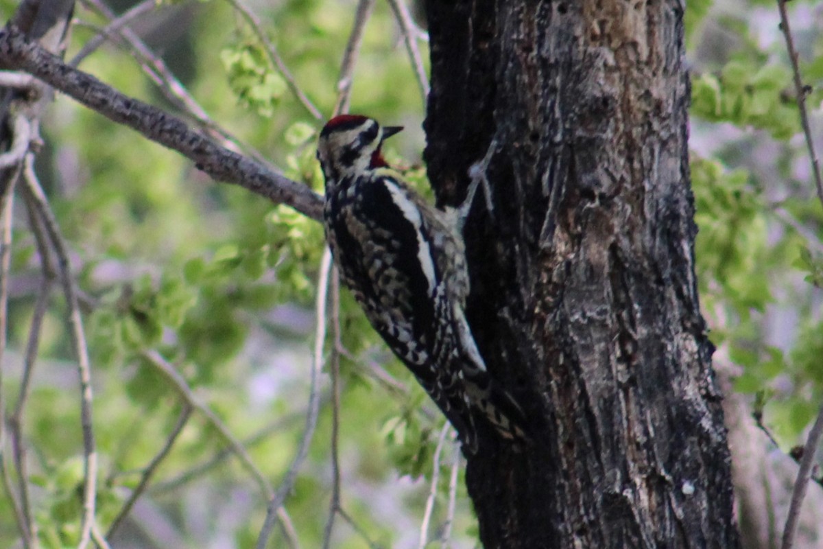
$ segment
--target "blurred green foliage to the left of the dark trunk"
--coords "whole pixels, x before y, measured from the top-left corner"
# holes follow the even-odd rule
[[[166,63],[211,119],[238,137],[246,151],[262,151],[286,176],[322,190],[323,177],[314,157],[321,122],[291,93],[258,37],[228,2],[184,5],[186,10],[177,12],[184,15],[169,24],[186,27],[186,47],[163,44],[160,49],[169,54]],[[10,13],[16,5],[5,2],[2,8]],[[295,0],[255,10],[295,81],[323,114],[330,114],[351,31],[351,6]],[[168,13],[152,15],[162,21]],[[92,26],[107,25],[80,5],[77,16],[91,26],[78,26],[72,33],[68,57],[95,34]],[[388,6],[377,5],[365,29],[352,110],[391,122],[419,121],[424,104],[407,54],[389,32],[394,25]],[[425,44],[421,47],[426,57]],[[128,51],[105,47],[86,58],[81,69],[128,95],[176,112]],[[407,84],[386,86],[388,81]],[[149,360],[149,351],[169,361],[198,401],[244,440],[263,476],[279,482],[304,429],[322,226],[244,189],[213,184],[176,153],[63,95],[58,95],[42,131],[47,147],[38,171],[69,242],[72,264],[79,266],[84,300],[100,458],[100,527],[105,530],[119,512],[179,414],[179,391]],[[398,146],[403,138],[396,138]],[[411,147],[421,149],[422,142]],[[393,154],[391,149],[387,152]],[[422,183],[423,171],[416,174]],[[39,256],[34,244],[25,224],[15,226],[15,277],[36,272]],[[59,296],[58,285],[54,287],[52,295]],[[340,452],[345,463],[356,463],[357,472],[370,482],[365,491],[344,486],[346,512],[375,542],[392,547],[402,533],[374,515],[370,494],[383,483],[396,484],[396,462],[407,463],[415,476],[430,467],[425,461],[431,441],[425,435],[433,428],[432,420],[419,416],[424,398],[411,375],[388,358],[351,295],[341,297],[340,337],[352,354],[342,359]],[[29,464],[30,476],[38,482],[34,511],[40,543],[62,548],[76,547],[80,533],[82,437],[76,367],[63,328],[65,307],[59,297],[53,301],[41,332],[38,375],[27,400],[25,427],[26,441],[36,452],[30,454]],[[25,349],[33,314],[32,295],[12,300],[13,352]],[[363,358],[374,356],[375,349],[379,361],[388,363],[383,375],[392,376],[396,386],[413,387],[411,396],[375,381]],[[15,394],[20,383],[14,376],[4,379],[4,390]],[[324,403],[318,433],[288,501],[305,547],[320,545],[330,488],[326,374],[320,390]],[[406,417],[407,436],[402,442],[387,442],[381,423],[398,414]],[[194,412],[151,486],[181,478],[224,449],[223,436]],[[407,457],[413,454],[416,462]],[[176,488],[143,498],[168,514],[187,547],[205,547],[210,536],[225,538],[227,532],[238,547],[253,546],[266,500],[236,459],[218,463],[193,480],[180,480]],[[222,506],[232,505],[226,494],[238,492],[251,502],[250,516],[230,524],[215,520],[214,528],[223,528],[219,532],[188,530],[186,516],[193,512],[188,501],[196,491],[206,495],[194,498],[201,501],[194,511],[198,516],[221,514]],[[416,519],[427,486],[421,480],[402,491],[415,496],[398,505],[398,512]],[[18,537],[7,503],[0,498],[2,547],[11,547]],[[346,527],[337,530],[340,539],[335,547],[362,547],[360,537]]]

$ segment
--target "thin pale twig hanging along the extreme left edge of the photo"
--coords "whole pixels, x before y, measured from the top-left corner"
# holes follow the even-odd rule
[[[17,529],[20,530],[23,547],[29,549],[31,539],[31,528],[23,506],[17,500],[14,493],[14,481],[10,468],[6,464],[6,399],[3,390],[3,354],[7,344],[7,319],[8,319],[8,278],[12,266],[12,212],[14,210],[14,188],[16,180],[20,175],[20,168],[14,173],[7,174],[5,180],[5,192],[0,197],[0,221],[2,221],[2,233],[0,233],[0,474],[2,474],[3,487],[9,502],[14,510],[14,518]],[[15,441],[12,440],[12,444]],[[19,472],[18,472],[19,474]]]

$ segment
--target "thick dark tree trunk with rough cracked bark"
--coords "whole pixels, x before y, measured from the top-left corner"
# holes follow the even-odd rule
[[[485,547],[738,547],[694,275],[677,0],[426,2],[441,202],[498,143],[468,316],[534,424],[467,486]]]

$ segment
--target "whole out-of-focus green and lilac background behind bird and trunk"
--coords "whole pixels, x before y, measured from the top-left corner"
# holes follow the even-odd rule
[[[81,70],[322,192],[316,136],[337,104],[358,3],[83,0],[66,59],[81,54]],[[407,51],[415,45],[425,72],[422,2],[407,6],[405,30],[392,2],[373,3],[351,112],[405,126],[386,156],[430,196],[421,163],[425,101]],[[821,150],[823,6],[789,7]],[[0,8],[7,20],[16,2]],[[123,14],[128,26],[118,30],[112,21]],[[823,204],[776,3],[695,0],[686,14],[702,306],[728,393],[744,547],[777,547],[797,472],[788,454],[805,440],[823,394]],[[101,33],[106,40],[86,54]],[[174,151],[63,95],[41,133],[35,169],[69,245],[91,352],[104,530],[170,446],[113,547],[253,547],[267,495],[307,432],[312,395],[316,431],[270,547],[320,547],[336,485],[330,547],[424,547],[423,531],[425,547],[477,547],[452,432],[346,291],[312,376],[317,222],[214,184]],[[2,392],[11,410],[46,288],[22,436],[41,547],[72,547],[83,479],[77,368],[66,305],[42,272],[25,209],[16,206]],[[808,498],[796,547],[821,547],[823,488],[811,486]],[[10,505],[0,498],[0,547],[21,547]]]

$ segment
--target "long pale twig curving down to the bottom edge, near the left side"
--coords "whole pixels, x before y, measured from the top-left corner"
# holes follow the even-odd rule
[[[83,518],[81,522],[80,542],[77,549],[84,549],[91,541],[91,528],[95,522],[95,504],[97,498],[97,451],[95,449],[95,433],[91,419],[92,391],[91,391],[91,364],[86,346],[86,334],[83,331],[83,321],[80,306],[77,304],[77,290],[72,277],[72,268],[69,263],[68,251],[63,235],[54,214],[49,207],[43,188],[37,180],[34,168],[34,155],[26,155],[24,168],[26,192],[33,199],[35,215],[43,222],[46,233],[51,240],[54,253],[58,258],[58,272],[63,282],[63,294],[68,308],[67,320],[69,324],[69,338],[77,356],[77,375],[80,379],[80,417],[83,431]]]

